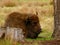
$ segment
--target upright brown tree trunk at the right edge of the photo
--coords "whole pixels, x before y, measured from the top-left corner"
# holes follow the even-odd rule
[[[54,0],[54,32],[52,36],[60,39],[60,0]]]

